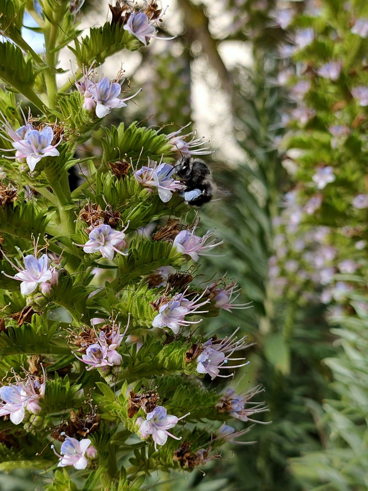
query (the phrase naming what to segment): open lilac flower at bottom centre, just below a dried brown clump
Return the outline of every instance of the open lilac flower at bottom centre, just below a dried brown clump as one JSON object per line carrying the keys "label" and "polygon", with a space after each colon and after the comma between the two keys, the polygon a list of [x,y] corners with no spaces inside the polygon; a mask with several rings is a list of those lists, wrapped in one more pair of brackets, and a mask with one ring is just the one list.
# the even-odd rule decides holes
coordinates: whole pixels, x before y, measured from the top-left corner
{"label": "open lilac flower at bottom centre, just below a dried brown clump", "polygon": [[184,414],[184,416],[177,418],[172,414],[167,414],[167,410],[163,406],[157,406],[153,411],[146,415],[146,419],[143,420],[139,427],[139,433],[142,437],[147,437],[152,435],[155,450],[157,451],[157,445],[164,445],[167,441],[167,437],[171,436],[175,440],[181,440],[181,436],[174,436],[167,430],[174,428],[174,426],[180,421],[188,416],[190,412]]}

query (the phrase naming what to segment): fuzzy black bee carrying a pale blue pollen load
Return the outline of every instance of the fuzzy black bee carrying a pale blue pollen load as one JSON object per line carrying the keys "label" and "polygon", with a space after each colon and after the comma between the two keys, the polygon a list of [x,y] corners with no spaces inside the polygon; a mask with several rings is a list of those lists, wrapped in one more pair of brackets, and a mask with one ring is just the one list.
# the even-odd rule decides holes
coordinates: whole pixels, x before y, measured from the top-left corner
{"label": "fuzzy black bee carrying a pale blue pollen load", "polygon": [[202,206],[212,198],[213,183],[210,169],[201,159],[183,157],[177,165],[176,174],[185,185],[179,194],[192,206]]}

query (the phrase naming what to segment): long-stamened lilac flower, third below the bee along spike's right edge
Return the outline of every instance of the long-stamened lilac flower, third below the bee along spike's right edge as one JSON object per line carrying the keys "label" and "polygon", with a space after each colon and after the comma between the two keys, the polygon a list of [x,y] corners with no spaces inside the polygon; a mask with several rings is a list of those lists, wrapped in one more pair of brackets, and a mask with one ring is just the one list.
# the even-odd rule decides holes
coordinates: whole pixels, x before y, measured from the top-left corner
{"label": "long-stamened lilac flower, third below the bee along spike's right edge", "polygon": [[239,328],[237,328],[231,336],[227,336],[220,341],[213,341],[209,339],[203,345],[202,353],[197,357],[197,372],[203,374],[209,374],[211,380],[216,377],[232,377],[234,373],[230,375],[220,375],[220,370],[242,367],[249,364],[249,361],[241,363],[240,365],[227,366],[228,361],[244,360],[245,358],[231,358],[231,355],[238,351],[247,348],[250,345],[245,344],[245,336],[237,340],[234,338]]}

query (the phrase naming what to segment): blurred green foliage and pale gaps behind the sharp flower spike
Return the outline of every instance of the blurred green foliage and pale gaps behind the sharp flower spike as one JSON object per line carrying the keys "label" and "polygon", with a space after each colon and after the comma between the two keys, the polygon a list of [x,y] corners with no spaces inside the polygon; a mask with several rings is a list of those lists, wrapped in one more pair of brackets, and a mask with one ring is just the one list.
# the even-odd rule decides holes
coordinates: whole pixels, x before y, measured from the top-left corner
{"label": "blurred green foliage and pale gaps behind the sharp flower spike", "polygon": [[[355,170],[355,177],[349,180],[341,173],[338,198],[327,197],[320,212],[301,220],[301,229],[303,234],[311,234],[317,227],[331,227],[330,242],[346,251],[341,259],[354,259],[354,242],[366,240],[366,213],[363,210],[364,214],[357,215],[349,200],[365,191],[368,118],[363,104],[352,103],[351,87],[367,82],[367,36],[351,33],[351,29],[357,19],[368,17],[368,7],[363,0],[168,3],[165,26],[167,33],[177,34],[177,38],[172,44],[153,42],[141,59],[128,64],[127,74],[134,86],[142,84],[144,97],[123,114],[126,123],[146,121],[157,127],[171,121],[172,125],[162,127],[165,133],[193,121],[191,130],[198,127],[198,135],[207,132],[211,137],[216,153],[206,161],[217,191],[200,215],[203,228],[216,229],[226,245],[219,255],[204,258],[196,271],[197,281],[219,279],[218,272],[227,271],[227,278],[242,288],[237,301],[252,301],[252,306],[232,313],[223,310],[220,317],[203,323],[203,329],[212,333],[228,327],[230,332],[238,325],[255,343],[249,352],[250,365],[238,372],[235,382],[240,386],[263,384],[270,409],[264,420],[272,423],[255,425],[249,439],[256,442],[233,446],[233,457],[207,464],[206,476],[199,470],[186,479],[168,474],[161,476],[158,484],[158,476],[152,475],[145,488],[367,490],[364,251],[359,253],[361,267],[355,275],[343,277],[335,263],[332,265],[337,280],[344,280],[349,288],[342,297],[334,297],[332,292],[328,301],[321,300],[323,282],[318,283],[313,272],[306,279],[298,274],[299,266],[297,272],[290,266],[289,275],[284,276],[270,270],[285,269],[290,257],[298,264],[301,261],[300,249],[290,257],[292,247],[281,253],[280,227],[286,224],[287,193],[300,191],[299,208],[304,198],[310,198],[310,169],[321,164],[318,152],[325,149],[325,141],[329,145],[328,125],[341,121],[356,132],[349,154],[351,160],[353,153],[356,162],[350,169]],[[107,3],[85,1],[81,19],[85,16],[98,24],[106,11]],[[313,47],[300,40],[308,36],[302,30],[311,28]],[[286,56],[290,46],[300,49]],[[331,58],[346,67],[338,81],[316,76],[318,66]],[[116,63],[110,68],[116,72]],[[299,80],[312,85],[302,94],[304,99],[290,95],[290,87]],[[345,107],[349,111],[342,114]],[[308,108],[314,112],[303,119],[301,109],[308,113]],[[110,114],[110,124],[119,123],[120,115],[118,111]],[[83,156],[99,155],[96,141],[91,139],[80,149]],[[343,168],[343,160],[349,156],[339,147],[328,148],[334,153],[331,160],[340,159]],[[315,153],[306,157],[310,149]],[[71,174],[76,183],[78,173],[79,169],[74,169]],[[339,210],[339,196],[346,203],[343,211]],[[354,213],[350,220],[349,214]],[[338,216],[342,218],[331,219]],[[289,225],[293,224],[295,215],[288,217]],[[300,227],[289,225],[283,240],[291,244],[300,239],[301,232]],[[340,232],[344,225],[358,232],[344,235]],[[34,484],[32,476],[23,471],[0,475],[4,491],[33,490],[36,486],[42,486],[42,479]]]}

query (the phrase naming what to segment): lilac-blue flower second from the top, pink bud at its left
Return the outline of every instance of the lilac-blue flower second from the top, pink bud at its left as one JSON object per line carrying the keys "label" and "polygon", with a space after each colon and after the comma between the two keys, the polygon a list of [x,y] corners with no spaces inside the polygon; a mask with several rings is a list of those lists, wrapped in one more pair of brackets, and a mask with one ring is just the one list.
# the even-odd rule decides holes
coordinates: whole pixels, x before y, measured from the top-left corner
{"label": "lilac-blue flower second from the top, pink bud at its left", "polygon": [[[119,99],[118,95],[121,92],[121,86],[118,82],[110,82],[108,77],[104,77],[100,82],[94,82],[88,91],[88,98],[93,98],[96,103],[96,116],[103,118],[113,108],[126,108],[125,101],[129,101],[135,97],[142,89],[139,89],[134,95],[127,97],[126,99]],[[84,93],[86,97],[86,93]],[[85,102],[86,103],[86,102]]]}

